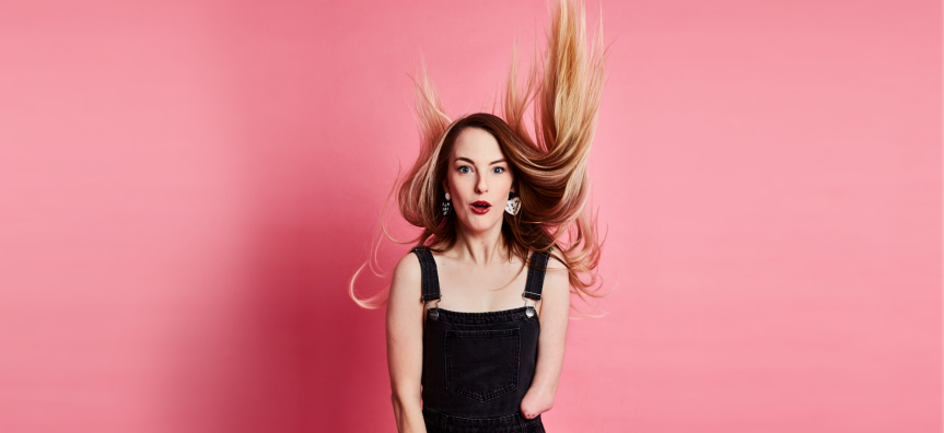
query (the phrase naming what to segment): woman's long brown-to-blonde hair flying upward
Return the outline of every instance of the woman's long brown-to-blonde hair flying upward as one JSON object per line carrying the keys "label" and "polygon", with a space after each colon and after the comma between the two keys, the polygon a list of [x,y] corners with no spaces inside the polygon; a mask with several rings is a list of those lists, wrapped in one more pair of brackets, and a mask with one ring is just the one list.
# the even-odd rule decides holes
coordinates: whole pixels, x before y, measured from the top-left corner
{"label": "woman's long brown-to-blonde hair flying upward", "polygon": [[[509,256],[514,254],[527,262],[529,249],[546,251],[567,267],[573,293],[584,302],[585,296],[606,295],[596,293],[599,288],[590,290],[599,278],[596,268],[603,241],[597,237],[596,218],[586,209],[586,163],[603,94],[606,57],[602,13],[598,19],[596,39],[587,50],[583,3],[575,7],[571,0],[556,1],[545,59],[532,62],[521,85],[515,47],[501,117],[476,113],[451,120],[422,68],[421,79],[413,82],[420,153],[400,184],[397,200],[404,219],[422,229],[422,233],[404,242],[389,236],[384,226],[388,195],[381,213],[381,229],[388,238],[398,244],[426,245],[433,251],[453,247],[455,213],[443,216],[440,208],[445,199],[442,180],[447,159],[463,129],[483,129],[498,141],[521,198],[516,215],[503,213],[501,233],[509,245]],[[528,106],[534,109],[534,138],[524,118]],[[396,183],[391,194],[395,189]],[[354,281],[363,267],[351,278],[349,294],[362,307],[378,308],[386,304],[386,300],[374,303],[383,292],[366,301],[354,295]],[[588,274],[590,281],[581,280],[581,274]]]}

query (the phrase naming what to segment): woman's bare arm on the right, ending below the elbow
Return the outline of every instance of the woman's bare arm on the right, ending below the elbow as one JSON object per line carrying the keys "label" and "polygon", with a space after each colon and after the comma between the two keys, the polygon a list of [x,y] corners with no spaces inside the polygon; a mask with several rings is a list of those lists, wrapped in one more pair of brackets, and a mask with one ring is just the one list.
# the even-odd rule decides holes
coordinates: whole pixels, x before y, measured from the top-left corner
{"label": "woman's bare arm on the right, ending below the elbow", "polygon": [[563,365],[567,320],[570,316],[570,281],[567,268],[551,257],[541,289],[540,336],[534,381],[521,401],[521,412],[533,419],[553,407],[553,396]]}

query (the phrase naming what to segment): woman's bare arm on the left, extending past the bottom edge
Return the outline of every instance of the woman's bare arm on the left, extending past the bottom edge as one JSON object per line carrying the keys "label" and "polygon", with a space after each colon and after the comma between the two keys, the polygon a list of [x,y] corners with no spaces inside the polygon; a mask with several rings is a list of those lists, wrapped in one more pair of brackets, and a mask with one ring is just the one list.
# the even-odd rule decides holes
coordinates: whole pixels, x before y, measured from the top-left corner
{"label": "woman's bare arm on the left, extending past the bottom edge", "polygon": [[409,253],[394,269],[386,319],[391,399],[399,433],[427,431],[420,397],[424,326],[421,284],[419,258]]}

